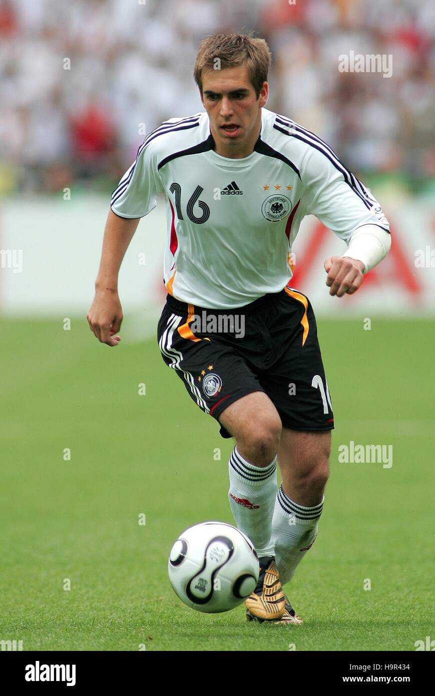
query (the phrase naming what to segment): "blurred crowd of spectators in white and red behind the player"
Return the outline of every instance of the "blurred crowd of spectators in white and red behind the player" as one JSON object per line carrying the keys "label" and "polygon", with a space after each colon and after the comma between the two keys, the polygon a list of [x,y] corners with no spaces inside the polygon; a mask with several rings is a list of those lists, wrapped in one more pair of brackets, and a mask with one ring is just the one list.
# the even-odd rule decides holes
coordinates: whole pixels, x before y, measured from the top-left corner
{"label": "blurred crowd of spectators in white and red behind the player", "polygon": [[[0,0],[0,193],[112,189],[144,129],[203,111],[200,39],[252,30],[268,109],[358,173],[432,185],[434,0]],[[339,72],[350,51],[393,56],[392,77]]]}

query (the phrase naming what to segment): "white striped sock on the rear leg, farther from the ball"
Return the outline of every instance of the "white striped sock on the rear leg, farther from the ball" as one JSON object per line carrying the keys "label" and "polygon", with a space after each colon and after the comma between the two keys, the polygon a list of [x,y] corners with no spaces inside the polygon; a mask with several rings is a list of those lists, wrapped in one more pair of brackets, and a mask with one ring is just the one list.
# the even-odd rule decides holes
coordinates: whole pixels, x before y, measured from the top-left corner
{"label": "white striped sock on the rear leg, farther from the ball", "polygon": [[290,500],[283,491],[283,484],[280,485],[272,521],[272,541],[281,585],[292,579],[297,565],[313,546],[324,499],[325,496],[319,505],[304,507]]}

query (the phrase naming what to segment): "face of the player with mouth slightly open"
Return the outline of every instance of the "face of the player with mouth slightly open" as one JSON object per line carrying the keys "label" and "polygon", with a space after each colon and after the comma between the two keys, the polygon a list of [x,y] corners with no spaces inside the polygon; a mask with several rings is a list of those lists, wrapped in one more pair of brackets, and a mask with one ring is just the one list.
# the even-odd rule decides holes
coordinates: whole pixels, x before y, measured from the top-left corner
{"label": "face of the player with mouth slightly open", "polygon": [[239,158],[253,152],[260,133],[261,108],[268,95],[264,82],[257,99],[246,65],[203,73],[201,101],[209,116],[218,155]]}

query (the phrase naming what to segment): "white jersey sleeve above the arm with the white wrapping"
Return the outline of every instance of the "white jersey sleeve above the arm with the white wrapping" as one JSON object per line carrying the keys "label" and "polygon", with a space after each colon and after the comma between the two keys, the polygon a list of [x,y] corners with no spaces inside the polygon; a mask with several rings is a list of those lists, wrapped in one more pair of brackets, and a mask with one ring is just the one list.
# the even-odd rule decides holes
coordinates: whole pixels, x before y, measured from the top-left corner
{"label": "white jersey sleeve above the arm with the white wrapping", "polygon": [[315,215],[346,243],[352,232],[363,225],[377,225],[390,231],[376,198],[326,145],[322,145],[322,151],[311,147],[303,165],[306,214]]}

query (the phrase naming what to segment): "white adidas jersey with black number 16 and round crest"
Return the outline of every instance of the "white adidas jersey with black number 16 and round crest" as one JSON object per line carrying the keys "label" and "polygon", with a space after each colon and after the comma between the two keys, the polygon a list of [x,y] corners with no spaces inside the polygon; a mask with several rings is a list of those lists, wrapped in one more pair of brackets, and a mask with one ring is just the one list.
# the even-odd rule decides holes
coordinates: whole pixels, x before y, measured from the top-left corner
{"label": "white adidas jersey with black number 16 and round crest", "polygon": [[214,152],[207,112],[163,122],[113,191],[111,209],[143,217],[158,193],[166,199],[168,293],[206,308],[237,308],[283,290],[308,214],[347,243],[366,224],[389,232],[377,200],[328,145],[264,108],[254,151],[243,159]]}

